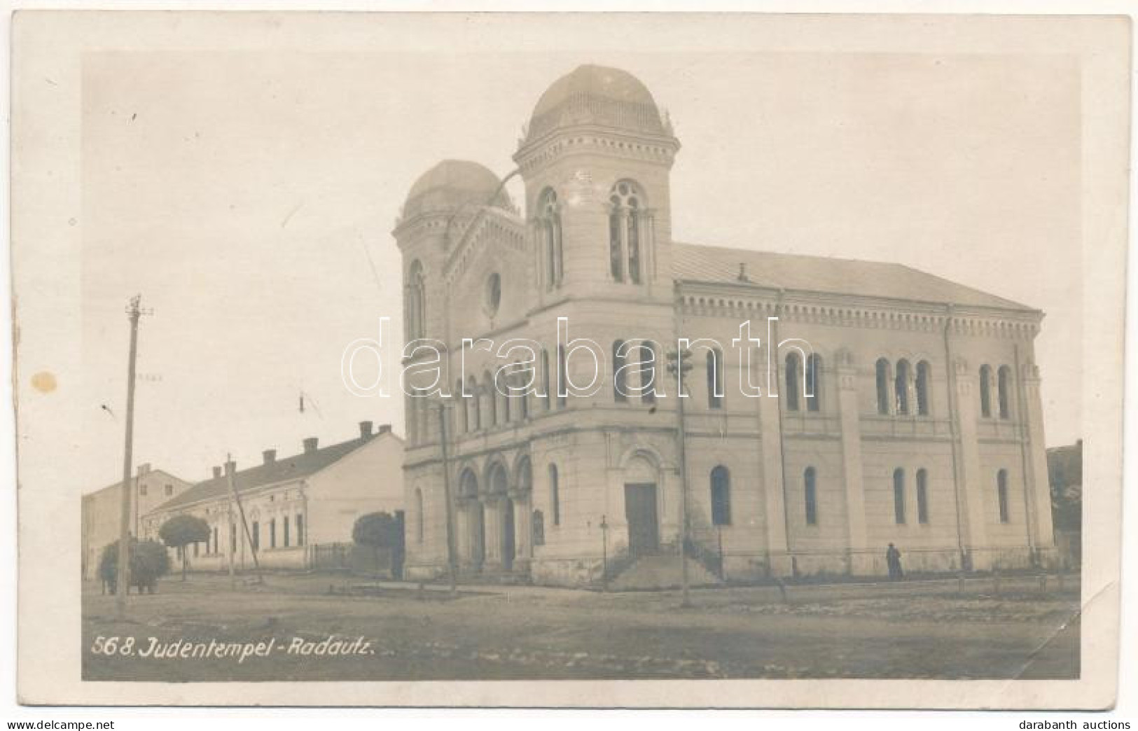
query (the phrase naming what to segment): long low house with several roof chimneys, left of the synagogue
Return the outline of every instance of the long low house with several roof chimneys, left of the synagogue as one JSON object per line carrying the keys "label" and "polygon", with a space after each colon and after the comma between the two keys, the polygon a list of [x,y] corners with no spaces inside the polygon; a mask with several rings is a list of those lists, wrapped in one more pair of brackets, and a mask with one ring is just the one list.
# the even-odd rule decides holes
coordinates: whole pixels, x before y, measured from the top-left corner
{"label": "long low house with several roof chimneys, left of the synagogue", "polygon": [[298,454],[265,450],[255,467],[214,467],[213,477],[143,515],[142,535],[157,540],[166,520],[189,514],[209,525],[209,539],[187,549],[193,569],[228,570],[230,560],[251,569],[254,550],[263,568],[310,568],[318,547],[352,542],[360,516],[402,515],[402,459],[403,440],[389,425],[373,432],[361,421],[360,436],[347,442],[321,447],[310,437]]}

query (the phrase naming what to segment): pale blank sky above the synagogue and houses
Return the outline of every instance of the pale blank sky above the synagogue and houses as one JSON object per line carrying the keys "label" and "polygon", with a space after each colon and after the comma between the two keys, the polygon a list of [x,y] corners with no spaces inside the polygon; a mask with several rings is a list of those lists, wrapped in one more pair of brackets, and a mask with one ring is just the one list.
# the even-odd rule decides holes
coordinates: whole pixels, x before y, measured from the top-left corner
{"label": "pale blank sky above the synagogue and houses", "polygon": [[121,478],[135,293],[137,462],[197,481],[360,420],[402,432],[401,400],[349,394],[340,356],[382,317],[399,335],[406,191],[443,158],[509,173],[541,93],[585,63],[668,110],[676,240],[896,261],[1044,310],[1047,444],[1079,438],[1069,56],[106,51],[82,73],[86,490]]}

